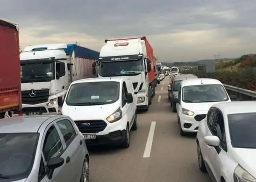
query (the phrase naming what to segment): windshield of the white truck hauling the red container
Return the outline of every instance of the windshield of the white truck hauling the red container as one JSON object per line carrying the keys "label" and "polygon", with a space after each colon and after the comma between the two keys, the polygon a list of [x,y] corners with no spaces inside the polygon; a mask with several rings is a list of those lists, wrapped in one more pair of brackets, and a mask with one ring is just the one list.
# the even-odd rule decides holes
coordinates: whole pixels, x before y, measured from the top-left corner
{"label": "windshield of the white truck hauling the red container", "polygon": [[143,72],[143,60],[101,62],[100,76],[133,76]]}

